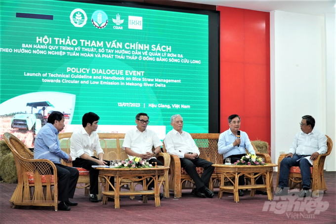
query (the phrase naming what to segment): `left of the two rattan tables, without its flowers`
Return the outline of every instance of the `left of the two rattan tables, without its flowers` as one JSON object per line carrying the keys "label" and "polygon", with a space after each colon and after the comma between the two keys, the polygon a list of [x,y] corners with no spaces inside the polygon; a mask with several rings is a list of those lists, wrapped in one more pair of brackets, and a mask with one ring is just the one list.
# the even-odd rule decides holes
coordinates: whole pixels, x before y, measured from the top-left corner
{"label": "left of the two rattan tables, without its flowers", "polygon": [[[165,172],[168,172],[168,166],[156,166],[151,168],[95,168],[99,170],[99,178],[103,184],[103,204],[107,204],[108,197],[114,198],[115,208],[120,208],[119,197],[120,195],[143,195],[143,203],[147,203],[147,195],[154,195],[155,206],[160,207],[160,186],[158,186],[158,176],[162,176]],[[116,187],[111,185],[110,178],[115,177]],[[154,190],[147,190],[147,178],[149,182],[154,181]],[[142,181],[143,190],[138,191],[120,191],[120,187],[124,184],[121,182],[123,179],[132,181]],[[113,190],[109,191],[109,186],[112,186]]]}

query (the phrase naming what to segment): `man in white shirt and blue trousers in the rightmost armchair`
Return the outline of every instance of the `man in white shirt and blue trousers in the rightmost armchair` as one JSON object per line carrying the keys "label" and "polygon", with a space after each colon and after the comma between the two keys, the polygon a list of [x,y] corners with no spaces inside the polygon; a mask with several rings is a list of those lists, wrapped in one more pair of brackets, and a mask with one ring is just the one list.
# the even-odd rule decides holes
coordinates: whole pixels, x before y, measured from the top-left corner
{"label": "man in white shirt and blue trousers in the rightmost armchair", "polygon": [[327,137],[314,129],[315,119],[310,115],[302,117],[301,131],[294,137],[294,142],[288,155],[280,163],[279,185],[275,196],[288,194],[288,176],[292,166],[299,166],[302,177],[302,191],[299,197],[310,195],[310,167],[319,154],[327,152]]}

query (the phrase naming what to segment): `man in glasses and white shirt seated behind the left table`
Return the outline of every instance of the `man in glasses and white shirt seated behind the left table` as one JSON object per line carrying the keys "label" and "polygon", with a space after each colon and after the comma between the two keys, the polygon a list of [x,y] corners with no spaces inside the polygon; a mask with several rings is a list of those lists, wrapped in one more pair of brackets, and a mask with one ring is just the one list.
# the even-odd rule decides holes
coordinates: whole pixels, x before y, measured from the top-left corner
{"label": "man in glasses and white shirt seated behind the left table", "polygon": [[[163,145],[155,131],[147,129],[149,116],[147,113],[138,113],[135,116],[136,127],[127,131],[123,144],[128,157],[136,156],[149,160],[149,164],[163,166],[164,164],[156,159],[156,155],[161,151]],[[152,152],[152,148],[155,150]],[[154,187],[154,181],[148,186],[148,189]],[[160,193],[160,199],[163,194]]]}

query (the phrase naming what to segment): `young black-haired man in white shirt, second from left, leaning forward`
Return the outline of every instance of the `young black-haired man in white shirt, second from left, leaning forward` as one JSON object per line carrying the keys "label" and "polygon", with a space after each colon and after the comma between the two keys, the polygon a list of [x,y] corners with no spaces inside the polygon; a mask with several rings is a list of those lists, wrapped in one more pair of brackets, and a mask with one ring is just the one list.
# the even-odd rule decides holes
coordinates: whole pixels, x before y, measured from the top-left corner
{"label": "young black-haired man in white shirt, second from left, leaning forward", "polygon": [[[99,137],[96,132],[98,128],[99,116],[93,112],[83,115],[82,125],[80,129],[74,131],[71,136],[70,155],[73,158],[74,167],[83,167],[89,170],[90,176],[90,197],[91,202],[98,202],[98,175],[99,170],[92,168],[92,165],[110,165],[109,161],[103,160],[104,151],[100,146]],[[93,156],[94,150],[97,152],[98,158]],[[111,179],[114,183],[114,179]],[[111,189],[111,186],[110,186]]]}

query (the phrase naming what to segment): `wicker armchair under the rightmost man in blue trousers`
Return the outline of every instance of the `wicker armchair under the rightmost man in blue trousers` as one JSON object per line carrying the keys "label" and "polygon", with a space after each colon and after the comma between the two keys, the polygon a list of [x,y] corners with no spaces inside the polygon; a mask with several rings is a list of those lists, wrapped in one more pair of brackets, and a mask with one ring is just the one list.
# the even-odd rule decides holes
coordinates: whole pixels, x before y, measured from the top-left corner
{"label": "wicker armchair under the rightmost man in blue trousers", "polygon": [[[332,139],[327,136],[327,152],[325,154],[320,154],[317,156],[317,158],[313,162],[313,166],[310,167],[310,180],[311,180],[311,186],[312,186],[312,195],[318,196],[319,191],[327,190],[328,187],[326,185],[326,182],[324,181],[324,162],[326,160],[327,155],[329,155],[333,149],[333,141]],[[277,187],[279,184],[279,173],[280,173],[280,163],[285,158],[287,154],[281,154],[278,159],[278,179],[277,179]],[[290,169],[290,175],[288,177],[288,187],[290,189],[293,188],[302,188],[302,178],[300,173],[300,168],[298,166],[293,166]]]}

